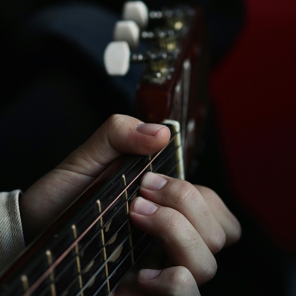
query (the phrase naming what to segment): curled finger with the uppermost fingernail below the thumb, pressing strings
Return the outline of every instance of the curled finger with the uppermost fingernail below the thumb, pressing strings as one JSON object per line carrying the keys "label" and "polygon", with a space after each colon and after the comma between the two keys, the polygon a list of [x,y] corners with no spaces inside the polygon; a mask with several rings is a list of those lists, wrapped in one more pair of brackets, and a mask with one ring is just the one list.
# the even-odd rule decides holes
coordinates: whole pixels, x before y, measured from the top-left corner
{"label": "curled finger with the uppermost fingernail below the thumb, pressing strings", "polygon": [[197,188],[183,180],[148,172],[141,183],[141,196],[174,208],[193,225],[213,254],[225,243],[225,232]]}

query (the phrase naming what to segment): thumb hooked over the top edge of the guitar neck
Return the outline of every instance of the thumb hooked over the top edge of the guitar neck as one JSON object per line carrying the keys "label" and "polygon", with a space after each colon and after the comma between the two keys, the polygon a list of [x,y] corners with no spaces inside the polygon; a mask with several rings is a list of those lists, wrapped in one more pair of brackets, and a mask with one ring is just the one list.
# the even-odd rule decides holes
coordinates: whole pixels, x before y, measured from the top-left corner
{"label": "thumb hooked over the top edge of the guitar neck", "polygon": [[83,145],[24,193],[20,199],[24,232],[36,236],[121,153],[148,155],[165,147],[169,137],[169,128],[164,125],[112,115]]}

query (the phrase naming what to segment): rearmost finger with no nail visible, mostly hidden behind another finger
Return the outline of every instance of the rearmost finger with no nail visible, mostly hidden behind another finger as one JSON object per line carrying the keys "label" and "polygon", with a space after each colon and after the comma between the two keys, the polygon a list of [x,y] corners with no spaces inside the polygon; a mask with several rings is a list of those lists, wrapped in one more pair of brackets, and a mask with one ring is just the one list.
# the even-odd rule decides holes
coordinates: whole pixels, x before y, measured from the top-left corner
{"label": "rearmost finger with no nail visible, mostly hidden behind another finger", "polygon": [[237,242],[241,236],[241,226],[235,216],[229,211],[218,194],[212,189],[194,185],[205,199],[217,221],[222,226],[226,241],[225,246]]}

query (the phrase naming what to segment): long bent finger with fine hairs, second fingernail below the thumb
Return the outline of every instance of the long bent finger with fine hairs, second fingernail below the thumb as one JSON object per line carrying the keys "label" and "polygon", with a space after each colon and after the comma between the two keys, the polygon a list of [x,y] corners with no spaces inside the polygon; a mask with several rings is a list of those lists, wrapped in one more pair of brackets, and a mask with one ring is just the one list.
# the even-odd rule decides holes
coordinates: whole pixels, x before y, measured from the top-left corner
{"label": "long bent finger with fine hairs, second fingernail below the thumb", "polygon": [[213,254],[180,212],[138,197],[130,204],[130,219],[141,230],[158,238],[169,259],[189,269],[197,284],[215,275],[217,263]]}

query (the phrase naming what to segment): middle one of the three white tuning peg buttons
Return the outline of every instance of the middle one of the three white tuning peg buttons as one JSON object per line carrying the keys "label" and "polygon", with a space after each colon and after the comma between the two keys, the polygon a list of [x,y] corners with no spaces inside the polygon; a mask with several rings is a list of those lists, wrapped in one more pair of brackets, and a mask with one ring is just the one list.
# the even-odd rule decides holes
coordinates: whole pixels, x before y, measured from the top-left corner
{"label": "middle one of the three white tuning peg buttons", "polygon": [[140,28],[134,21],[116,22],[113,38],[115,41],[126,41],[131,48],[136,48],[139,44]]}

